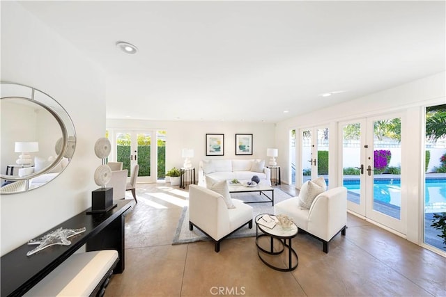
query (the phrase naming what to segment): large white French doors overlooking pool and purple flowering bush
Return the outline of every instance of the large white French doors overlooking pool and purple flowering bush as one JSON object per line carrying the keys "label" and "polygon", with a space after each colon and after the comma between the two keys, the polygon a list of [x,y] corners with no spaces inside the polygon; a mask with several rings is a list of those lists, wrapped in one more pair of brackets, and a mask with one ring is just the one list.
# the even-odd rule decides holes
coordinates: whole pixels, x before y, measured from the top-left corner
{"label": "large white French doors overlooking pool and purple flowering bush", "polygon": [[339,125],[348,209],[405,234],[401,115],[387,114]]}

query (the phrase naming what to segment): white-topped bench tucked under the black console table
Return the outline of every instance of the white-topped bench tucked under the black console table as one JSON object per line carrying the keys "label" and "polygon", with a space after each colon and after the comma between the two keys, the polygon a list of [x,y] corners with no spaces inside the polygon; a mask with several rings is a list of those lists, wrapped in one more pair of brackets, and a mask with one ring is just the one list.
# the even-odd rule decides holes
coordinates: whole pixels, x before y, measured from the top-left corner
{"label": "white-topped bench tucked under the black console table", "polygon": [[24,296],[103,296],[118,260],[116,250],[74,254]]}

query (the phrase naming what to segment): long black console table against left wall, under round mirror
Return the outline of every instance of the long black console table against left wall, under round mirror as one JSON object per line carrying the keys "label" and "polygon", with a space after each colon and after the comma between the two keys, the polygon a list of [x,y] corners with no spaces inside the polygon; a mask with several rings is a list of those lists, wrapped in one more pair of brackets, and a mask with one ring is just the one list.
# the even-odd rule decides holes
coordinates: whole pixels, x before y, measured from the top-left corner
{"label": "long black console table against left wall, under round mirror", "polygon": [[114,202],[118,206],[105,214],[86,214],[86,211],[82,211],[40,235],[43,236],[59,227],[66,229],[86,227],[85,232],[70,237],[70,246],[50,246],[28,257],[26,252],[36,246],[29,246],[25,243],[3,255],[0,258],[1,296],[22,296],[84,244],[86,244],[87,252],[117,250],[119,262],[116,264],[114,273],[122,273],[125,267],[124,216],[125,212],[130,209],[130,200]]}

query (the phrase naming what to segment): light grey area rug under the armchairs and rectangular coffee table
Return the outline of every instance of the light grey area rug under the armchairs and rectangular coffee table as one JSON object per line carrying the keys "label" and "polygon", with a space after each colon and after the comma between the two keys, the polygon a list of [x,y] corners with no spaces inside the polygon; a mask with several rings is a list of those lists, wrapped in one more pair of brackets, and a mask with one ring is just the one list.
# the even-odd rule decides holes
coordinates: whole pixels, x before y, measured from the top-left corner
{"label": "light grey area rug under the armchairs and rectangular coffee table", "polygon": [[[267,195],[271,195],[270,192],[266,192]],[[265,201],[267,198],[263,195],[259,195],[259,193],[232,193],[231,197],[234,199],[242,200],[242,201]],[[292,195],[289,193],[285,193],[279,188],[274,189],[274,203],[277,204],[281,201],[291,198]],[[252,212],[254,214],[254,218],[258,214],[274,214],[274,207],[269,203],[250,203],[252,206]],[[253,225],[252,229],[249,229],[247,225],[242,227],[240,230],[237,230],[228,239],[233,238],[242,238],[242,237],[253,237],[256,236],[256,227]],[[209,237],[203,234],[200,230],[194,227],[194,230],[189,230],[189,211],[187,211],[187,207],[183,208],[183,211],[180,216],[180,220],[178,220],[178,226],[176,227],[176,232],[174,235],[174,239],[172,244],[183,244],[183,243],[191,243],[195,241],[210,241]]]}

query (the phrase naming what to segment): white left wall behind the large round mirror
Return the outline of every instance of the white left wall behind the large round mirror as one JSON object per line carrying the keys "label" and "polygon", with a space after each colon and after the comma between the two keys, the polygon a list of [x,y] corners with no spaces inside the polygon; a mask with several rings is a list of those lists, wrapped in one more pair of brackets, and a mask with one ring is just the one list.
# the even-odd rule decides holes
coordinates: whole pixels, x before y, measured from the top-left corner
{"label": "white left wall behind the large round mirror", "polygon": [[100,165],[93,145],[105,131],[103,77],[100,67],[19,3],[1,1],[1,81],[52,96],[77,132],[75,154],[59,177],[28,193],[1,195],[1,255],[91,206]]}

